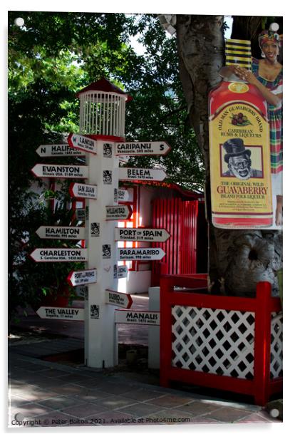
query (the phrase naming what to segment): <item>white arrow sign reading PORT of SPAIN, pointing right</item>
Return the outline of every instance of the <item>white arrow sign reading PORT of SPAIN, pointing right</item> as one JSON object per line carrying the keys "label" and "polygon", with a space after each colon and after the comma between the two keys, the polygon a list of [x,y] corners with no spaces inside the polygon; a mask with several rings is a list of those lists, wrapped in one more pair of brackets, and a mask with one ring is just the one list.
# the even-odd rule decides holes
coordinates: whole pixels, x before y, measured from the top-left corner
{"label": "white arrow sign reading PORT of SPAIN, pointing right", "polygon": [[165,229],[116,227],[115,241],[165,242],[170,234]]}

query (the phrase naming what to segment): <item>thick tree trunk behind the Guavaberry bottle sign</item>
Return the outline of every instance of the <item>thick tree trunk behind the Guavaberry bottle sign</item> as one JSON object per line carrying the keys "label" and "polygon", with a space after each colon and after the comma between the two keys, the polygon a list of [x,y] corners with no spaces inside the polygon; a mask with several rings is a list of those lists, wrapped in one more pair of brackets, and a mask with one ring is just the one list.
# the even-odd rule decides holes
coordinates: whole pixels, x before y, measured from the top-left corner
{"label": "thick tree trunk behind the Guavaberry bottle sign", "polygon": [[223,16],[177,15],[180,80],[190,123],[206,169],[209,221],[209,279],[214,293],[253,296],[259,281],[271,282],[278,296],[276,270],[282,266],[282,234],[267,230],[224,230],[212,226],[209,177],[208,94],[224,65]]}

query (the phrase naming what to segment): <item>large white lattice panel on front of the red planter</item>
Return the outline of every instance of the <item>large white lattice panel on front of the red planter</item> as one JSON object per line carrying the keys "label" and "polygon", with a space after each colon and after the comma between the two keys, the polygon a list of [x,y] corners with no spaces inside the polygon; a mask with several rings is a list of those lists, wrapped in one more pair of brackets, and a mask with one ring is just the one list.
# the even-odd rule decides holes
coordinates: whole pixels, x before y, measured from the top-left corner
{"label": "large white lattice panel on front of the red planter", "polygon": [[254,313],[172,306],[172,366],[254,376]]}

